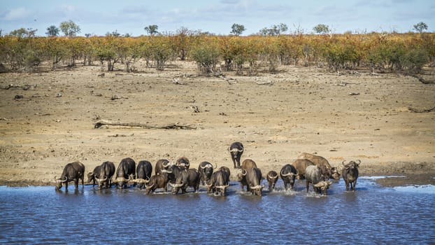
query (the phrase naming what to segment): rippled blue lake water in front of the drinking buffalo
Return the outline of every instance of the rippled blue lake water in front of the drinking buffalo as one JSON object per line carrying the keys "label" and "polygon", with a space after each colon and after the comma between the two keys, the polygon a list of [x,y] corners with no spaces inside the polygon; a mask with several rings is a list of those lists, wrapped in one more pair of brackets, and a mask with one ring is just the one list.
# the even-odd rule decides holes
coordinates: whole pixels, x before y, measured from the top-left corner
{"label": "rippled blue lake water in front of the drinking buffalo", "polygon": [[262,197],[236,182],[226,197],[204,186],[184,195],[1,186],[0,244],[435,243],[435,186],[384,188],[362,176],[355,193],[341,180],[326,197],[304,186],[278,181]]}

